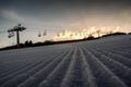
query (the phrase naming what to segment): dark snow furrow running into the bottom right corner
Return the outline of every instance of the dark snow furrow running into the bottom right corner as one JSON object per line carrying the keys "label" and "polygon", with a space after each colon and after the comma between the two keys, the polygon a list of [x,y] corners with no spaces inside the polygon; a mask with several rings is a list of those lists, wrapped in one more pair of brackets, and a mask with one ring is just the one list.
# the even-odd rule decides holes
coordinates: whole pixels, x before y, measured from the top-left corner
{"label": "dark snow furrow running into the bottom right corner", "polygon": [[[131,79],[131,69],[127,67],[122,63],[110,59],[109,57],[106,57],[102,53],[99,53],[96,50],[92,49],[92,53],[96,55],[96,58],[102,61],[116,76],[118,76],[122,82],[124,82],[127,85],[130,85]],[[97,57],[100,55],[100,57]]]}

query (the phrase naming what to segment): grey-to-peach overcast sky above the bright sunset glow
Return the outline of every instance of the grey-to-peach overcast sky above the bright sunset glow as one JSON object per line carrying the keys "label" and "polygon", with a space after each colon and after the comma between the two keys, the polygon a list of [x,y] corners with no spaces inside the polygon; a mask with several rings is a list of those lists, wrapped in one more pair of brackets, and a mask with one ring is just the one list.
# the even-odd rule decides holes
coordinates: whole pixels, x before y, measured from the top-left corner
{"label": "grey-to-peach overcast sky above the bright sunset glow", "polygon": [[[131,32],[130,0],[0,0],[0,32],[21,23],[28,30],[39,32],[86,26],[117,27]],[[50,32],[51,33],[51,32]],[[29,34],[24,37],[29,39]],[[32,33],[33,34],[33,33]],[[0,46],[15,44],[8,34],[0,34]],[[9,40],[9,41],[5,41]],[[35,40],[34,36],[34,40]]]}

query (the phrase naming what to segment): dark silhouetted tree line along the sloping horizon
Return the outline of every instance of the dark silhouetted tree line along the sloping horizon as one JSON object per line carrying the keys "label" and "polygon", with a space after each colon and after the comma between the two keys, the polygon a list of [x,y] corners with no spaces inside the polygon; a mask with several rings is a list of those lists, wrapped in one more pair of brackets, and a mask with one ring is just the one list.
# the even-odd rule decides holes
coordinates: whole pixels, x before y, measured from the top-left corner
{"label": "dark silhouetted tree line along the sloping horizon", "polygon": [[4,48],[1,48],[0,50],[10,50],[10,49],[21,49],[21,48],[28,48],[28,47],[38,47],[38,46],[48,46],[48,45],[56,45],[56,44],[66,44],[66,42],[74,42],[74,41],[82,41],[82,40],[94,40],[94,39],[99,39],[103,37],[109,37],[109,36],[117,36],[117,35],[131,35],[131,33],[111,33],[111,34],[106,34],[100,37],[94,37],[94,36],[88,36],[87,38],[83,39],[78,39],[78,40],[62,40],[62,41],[52,41],[52,40],[45,40],[44,42],[33,42],[32,40],[26,40],[24,44],[20,44],[20,46],[14,45],[14,46],[8,46]]}

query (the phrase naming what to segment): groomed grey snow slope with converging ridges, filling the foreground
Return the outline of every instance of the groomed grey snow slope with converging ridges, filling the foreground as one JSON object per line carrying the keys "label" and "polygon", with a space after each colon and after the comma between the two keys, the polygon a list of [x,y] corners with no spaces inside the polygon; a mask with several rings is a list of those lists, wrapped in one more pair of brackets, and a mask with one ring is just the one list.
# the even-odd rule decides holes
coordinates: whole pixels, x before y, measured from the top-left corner
{"label": "groomed grey snow slope with converging ridges, filling the foreground", "polygon": [[131,35],[0,51],[0,87],[131,87]]}

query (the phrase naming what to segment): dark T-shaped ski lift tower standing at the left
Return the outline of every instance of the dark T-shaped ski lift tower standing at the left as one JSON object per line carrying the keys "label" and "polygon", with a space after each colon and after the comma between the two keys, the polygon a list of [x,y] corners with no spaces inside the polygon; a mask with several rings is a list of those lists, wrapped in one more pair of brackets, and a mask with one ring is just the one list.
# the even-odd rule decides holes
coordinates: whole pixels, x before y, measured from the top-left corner
{"label": "dark T-shaped ski lift tower standing at the left", "polygon": [[16,32],[16,44],[17,46],[20,46],[20,32],[25,30],[25,27],[22,27],[21,24],[19,24],[17,26],[14,26],[12,29],[9,29],[8,33],[10,35],[10,33],[14,33]]}

